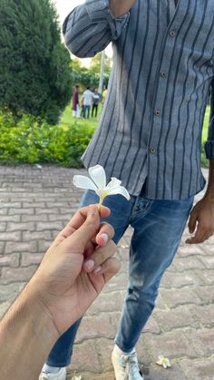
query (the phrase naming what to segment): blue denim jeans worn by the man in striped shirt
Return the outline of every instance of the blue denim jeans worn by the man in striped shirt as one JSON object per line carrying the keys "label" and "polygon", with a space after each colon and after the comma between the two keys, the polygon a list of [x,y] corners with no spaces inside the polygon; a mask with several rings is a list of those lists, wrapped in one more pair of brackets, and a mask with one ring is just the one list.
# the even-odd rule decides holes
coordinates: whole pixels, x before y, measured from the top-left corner
{"label": "blue denim jeans worn by the man in striped shirt", "polygon": [[[82,205],[96,203],[95,192],[83,195]],[[142,194],[125,200],[121,195],[107,197],[104,205],[111,210],[108,222],[115,229],[117,243],[131,225],[129,284],[122,318],[115,342],[124,352],[131,352],[141,330],[151,316],[160,279],[169,267],[192,207],[193,197],[188,200],[149,200]],[[73,341],[80,321],[61,336],[48,356],[47,364],[65,366],[71,361]]]}

